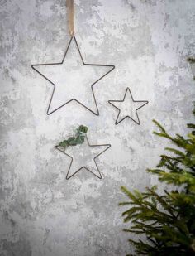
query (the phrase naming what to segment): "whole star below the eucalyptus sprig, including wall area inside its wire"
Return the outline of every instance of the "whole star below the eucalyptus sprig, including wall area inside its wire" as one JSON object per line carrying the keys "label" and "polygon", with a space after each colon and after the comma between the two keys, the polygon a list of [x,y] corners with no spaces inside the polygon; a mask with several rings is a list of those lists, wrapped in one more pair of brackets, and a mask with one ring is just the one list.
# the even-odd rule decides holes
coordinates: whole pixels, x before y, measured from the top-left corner
{"label": "whole star below the eucalyptus sprig, including wall area inside its wire", "polygon": [[70,146],[66,149],[64,149],[64,147],[55,146],[56,149],[71,158],[69,171],[66,175],[67,180],[69,180],[69,178],[74,176],[78,171],[81,171],[82,169],[86,169],[87,171],[93,173],[94,176],[102,179],[96,158],[102,155],[103,152],[107,151],[109,147],[111,147],[110,144],[90,145],[87,136],[83,144]]}

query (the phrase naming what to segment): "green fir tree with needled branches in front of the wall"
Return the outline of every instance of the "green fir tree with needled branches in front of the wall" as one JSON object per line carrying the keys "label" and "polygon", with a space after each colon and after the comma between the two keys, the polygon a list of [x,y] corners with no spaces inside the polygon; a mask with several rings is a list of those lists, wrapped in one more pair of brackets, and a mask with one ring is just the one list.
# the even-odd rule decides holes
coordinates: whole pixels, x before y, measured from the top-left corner
{"label": "green fir tree with needled branches in front of the wall", "polygon": [[169,153],[160,156],[155,169],[147,171],[170,189],[159,195],[157,186],[147,187],[143,193],[122,186],[129,201],[120,205],[131,206],[122,214],[131,225],[124,230],[139,236],[145,234],[146,239],[129,239],[136,255],[195,255],[195,124],[188,123],[190,133],[183,138],[179,134],[170,136],[154,122],[159,128],[154,133],[168,139],[174,147],[166,147]]}

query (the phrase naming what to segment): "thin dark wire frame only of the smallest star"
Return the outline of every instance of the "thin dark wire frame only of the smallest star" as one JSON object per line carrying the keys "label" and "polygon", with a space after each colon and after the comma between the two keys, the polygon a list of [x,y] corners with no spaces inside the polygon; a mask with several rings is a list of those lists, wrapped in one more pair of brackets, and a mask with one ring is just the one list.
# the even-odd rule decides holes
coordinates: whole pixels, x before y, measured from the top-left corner
{"label": "thin dark wire frame only of the smallest star", "polygon": [[[109,104],[112,104],[112,102],[124,102],[125,99],[126,99],[126,94],[127,94],[128,91],[129,91],[130,94],[131,94],[130,88],[127,87],[127,88],[126,88],[126,93],[125,93],[124,98],[123,98],[122,100],[108,100],[108,103],[109,103]],[[121,120],[120,120],[119,122],[117,122],[117,121],[118,121],[118,118],[119,118],[119,116],[120,116],[120,114],[121,114],[121,109],[117,108],[114,104],[112,104],[113,107],[115,107],[116,109],[118,109],[117,119],[116,119],[116,121],[115,121],[115,124],[116,124],[116,125],[117,125],[118,123],[121,123],[121,122],[122,122],[124,119],[126,119],[126,118],[130,118],[133,122],[135,122],[136,124],[139,124],[139,125],[140,125],[140,118],[139,118],[139,116],[138,116],[138,114],[137,114],[137,110],[138,110],[138,109],[141,109],[142,107],[144,107],[145,104],[148,104],[148,103],[149,103],[149,101],[148,101],[148,100],[134,100],[132,94],[131,94],[131,99],[132,99],[133,102],[140,102],[140,103],[142,102],[142,103],[144,103],[143,105],[141,105],[139,108],[136,109],[136,117],[137,117],[138,122],[136,122],[136,120],[134,120],[133,118],[131,118],[131,116],[129,116],[129,115],[126,115],[124,118],[121,118]]]}

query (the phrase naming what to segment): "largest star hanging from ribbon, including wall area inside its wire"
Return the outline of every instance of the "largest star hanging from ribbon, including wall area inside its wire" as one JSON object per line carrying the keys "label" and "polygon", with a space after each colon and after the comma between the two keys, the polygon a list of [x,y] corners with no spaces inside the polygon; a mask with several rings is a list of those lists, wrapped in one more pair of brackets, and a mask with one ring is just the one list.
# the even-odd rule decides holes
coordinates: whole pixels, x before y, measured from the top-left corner
{"label": "largest star hanging from ribbon, including wall area inside its wire", "polygon": [[46,112],[48,115],[73,100],[99,115],[93,85],[115,68],[114,65],[85,63],[75,36],[71,37],[61,62],[35,64],[31,67],[54,85]]}

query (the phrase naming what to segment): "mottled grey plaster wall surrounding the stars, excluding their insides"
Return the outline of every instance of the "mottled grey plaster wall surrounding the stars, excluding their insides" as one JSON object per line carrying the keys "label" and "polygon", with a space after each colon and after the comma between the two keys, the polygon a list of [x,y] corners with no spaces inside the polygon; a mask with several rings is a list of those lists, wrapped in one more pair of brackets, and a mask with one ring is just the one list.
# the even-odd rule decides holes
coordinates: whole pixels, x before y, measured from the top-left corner
{"label": "mottled grey plaster wall surrounding the stars, excluding their insides", "polygon": [[[76,0],[76,37],[88,63],[116,65],[94,91],[100,116],[78,104],[45,114],[52,86],[31,64],[61,61],[69,42],[64,0],[0,1],[0,255],[104,256],[132,249],[121,220],[120,186],[144,190],[164,141],[152,118],[171,133],[193,119],[194,0]],[[150,103],[140,123],[115,126],[129,86]],[[65,180],[69,159],[54,146],[88,125],[91,143],[111,143],[98,159],[99,180],[80,171]]]}

